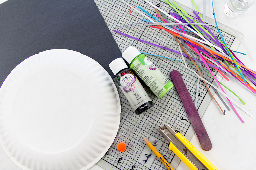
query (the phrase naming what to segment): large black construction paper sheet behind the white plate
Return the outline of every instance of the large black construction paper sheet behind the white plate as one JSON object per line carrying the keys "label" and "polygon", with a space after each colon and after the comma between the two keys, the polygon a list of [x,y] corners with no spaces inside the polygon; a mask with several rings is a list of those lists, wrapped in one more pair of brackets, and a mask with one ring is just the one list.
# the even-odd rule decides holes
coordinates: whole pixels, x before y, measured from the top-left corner
{"label": "large black construction paper sheet behind the white plate", "polygon": [[8,0],[0,4],[0,85],[20,62],[49,49],[87,55],[111,75],[121,57],[93,0]]}

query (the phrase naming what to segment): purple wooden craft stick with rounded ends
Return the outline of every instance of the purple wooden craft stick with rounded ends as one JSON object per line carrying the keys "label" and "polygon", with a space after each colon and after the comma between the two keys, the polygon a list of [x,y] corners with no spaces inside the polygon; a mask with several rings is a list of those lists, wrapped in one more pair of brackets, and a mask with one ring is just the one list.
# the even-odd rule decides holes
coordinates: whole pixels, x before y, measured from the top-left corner
{"label": "purple wooden craft stick with rounded ends", "polygon": [[211,150],[212,148],[211,140],[195,108],[195,105],[190,97],[189,91],[180,75],[180,72],[177,70],[173,70],[170,76],[172,78],[172,81],[176,90],[178,91],[178,94],[183,103],[183,106],[186,109],[186,112],[189,116],[189,119],[192,123],[192,126],[195,130],[196,136],[200,142],[201,147],[205,151]]}

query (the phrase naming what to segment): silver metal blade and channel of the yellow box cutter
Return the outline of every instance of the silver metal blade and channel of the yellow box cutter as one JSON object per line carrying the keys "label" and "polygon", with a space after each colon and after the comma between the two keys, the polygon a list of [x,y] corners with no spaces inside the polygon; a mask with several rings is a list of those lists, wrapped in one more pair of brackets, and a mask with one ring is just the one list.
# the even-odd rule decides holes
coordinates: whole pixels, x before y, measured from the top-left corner
{"label": "silver metal blade and channel of the yellow box cutter", "polygon": [[195,155],[189,151],[189,149],[182,143],[178,138],[176,138],[176,132],[172,130],[169,125],[159,127],[158,132],[170,143],[176,146],[180,152],[199,170],[206,170],[207,168],[200,160],[195,157]]}

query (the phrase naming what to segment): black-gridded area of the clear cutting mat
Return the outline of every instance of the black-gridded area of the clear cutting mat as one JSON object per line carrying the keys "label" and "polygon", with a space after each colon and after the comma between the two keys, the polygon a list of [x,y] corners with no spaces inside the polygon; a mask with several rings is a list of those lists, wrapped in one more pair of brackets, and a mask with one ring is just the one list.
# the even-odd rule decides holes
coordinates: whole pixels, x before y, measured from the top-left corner
{"label": "black-gridded area of the clear cutting mat", "polygon": [[[154,8],[151,7],[149,4],[145,3],[143,0],[128,0],[127,2],[135,8],[140,6],[144,10],[151,13],[153,16],[156,16]],[[169,5],[167,5],[164,1],[150,0],[150,2],[158,5],[164,11],[168,12],[169,10],[171,10],[171,12],[173,12],[172,8],[169,7]],[[180,61],[183,60],[181,55],[177,53],[170,52],[156,46],[152,46],[115,33],[113,31],[114,29],[130,36],[140,38],[176,51],[180,50],[177,42],[174,40],[173,37],[167,36],[162,31],[149,28],[149,26],[146,27],[143,24],[136,24],[124,27],[115,27],[120,25],[144,22],[141,19],[146,19],[141,14],[130,8],[128,5],[124,4],[123,1],[95,0],[95,3],[98,6],[102,17],[105,19],[105,22],[108,25],[108,28],[111,31],[121,52],[123,52],[128,46],[132,45],[141,52],[170,57]],[[170,22],[174,21],[170,19]],[[175,27],[177,28],[177,26]],[[208,27],[211,29],[214,35],[219,37],[219,33],[214,26],[209,25]],[[231,46],[235,37],[224,31],[222,31],[222,34],[224,39],[226,40],[227,45]],[[192,33],[189,33],[189,35],[195,36]],[[202,103],[207,93],[207,89],[205,88],[203,82],[201,82],[200,80],[199,92],[198,94],[196,94],[196,84],[198,78],[194,75],[194,73],[192,73],[192,71],[186,69],[184,62],[173,61],[167,58],[161,58],[152,55],[146,56],[170,80],[170,71],[178,70],[182,74],[183,80],[194,102],[196,95],[198,95],[197,109],[200,107],[200,104]],[[195,57],[199,59],[199,56],[195,55]],[[190,61],[190,59],[185,58],[185,61]],[[190,64],[188,62],[186,62],[186,64],[190,69],[197,72],[197,69],[193,64]],[[204,69],[207,69],[203,65],[202,67]],[[216,72],[214,73],[216,74]],[[210,76],[208,76],[208,78],[211,82],[213,81]],[[173,87],[169,92],[167,92],[167,94],[159,99],[150,91],[149,88],[145,86],[145,84],[143,84],[143,82],[141,83],[144,86],[149,97],[152,99],[153,103],[155,103],[152,109],[149,109],[147,112],[142,113],[141,115],[136,115],[134,113],[128,100],[125,98],[122,91],[117,86],[121,102],[121,122],[119,132],[110,149],[102,159],[117,167],[118,169],[148,169],[137,160],[143,148],[147,147],[145,146],[145,143],[143,143],[142,137],[148,139],[150,136],[154,136],[155,138],[163,142],[163,145],[161,146],[159,152],[170,163],[174,157],[174,153],[168,149],[167,141],[158,133],[158,128],[164,125],[170,125],[173,130],[176,130],[177,132],[179,131],[184,136],[189,128],[189,125],[191,124],[175,87]],[[117,84],[115,83],[115,85]],[[120,152],[117,150],[117,144],[119,142],[126,143],[127,148],[125,152]],[[165,167],[158,159],[155,159],[150,169],[165,169]]]}

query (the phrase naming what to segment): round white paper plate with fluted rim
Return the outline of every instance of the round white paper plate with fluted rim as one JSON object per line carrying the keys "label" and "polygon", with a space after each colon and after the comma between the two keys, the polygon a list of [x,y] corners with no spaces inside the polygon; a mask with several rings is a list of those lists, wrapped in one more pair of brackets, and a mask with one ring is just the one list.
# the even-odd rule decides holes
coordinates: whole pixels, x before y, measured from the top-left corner
{"label": "round white paper plate with fluted rim", "polygon": [[111,77],[79,52],[53,49],[27,58],[0,92],[2,147],[22,169],[88,169],[119,128]]}

